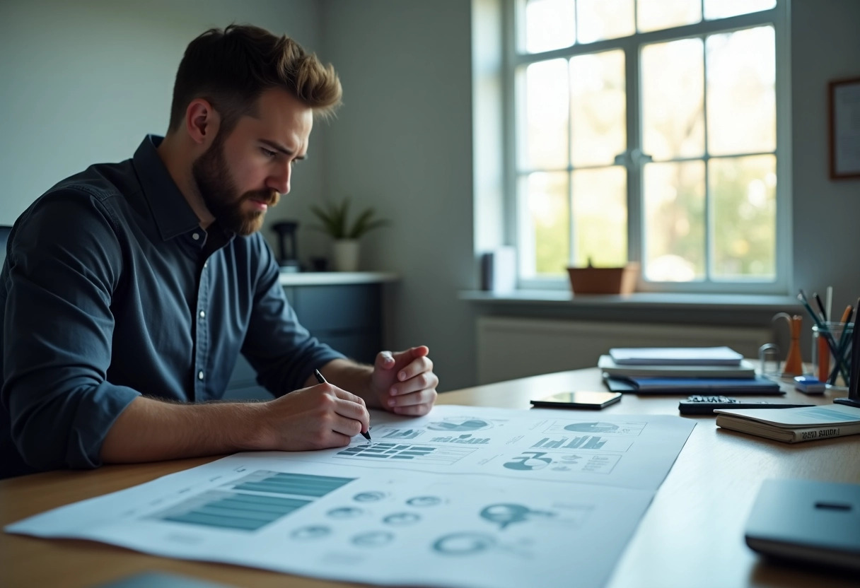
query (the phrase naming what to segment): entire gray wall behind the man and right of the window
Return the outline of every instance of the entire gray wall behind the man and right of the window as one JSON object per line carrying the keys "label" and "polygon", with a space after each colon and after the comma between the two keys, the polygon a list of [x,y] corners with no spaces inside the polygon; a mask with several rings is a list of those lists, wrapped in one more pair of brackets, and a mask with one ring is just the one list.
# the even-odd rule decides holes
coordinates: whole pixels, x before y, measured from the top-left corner
{"label": "entire gray wall behind the man and right of the window", "polygon": [[[841,309],[860,294],[860,181],[827,177],[826,83],[860,76],[860,3],[791,9],[792,290],[833,285]],[[393,224],[365,237],[362,263],[402,275],[390,346],[429,345],[440,389],[474,383],[476,310],[457,297],[476,285],[468,0],[5,0],[0,224],[64,176],[163,133],[188,40],[234,20],[291,34],[344,84],[338,118],[317,127],[267,224],[298,217],[306,257],[327,244],[306,230],[311,201],[351,195],[377,206]]]}

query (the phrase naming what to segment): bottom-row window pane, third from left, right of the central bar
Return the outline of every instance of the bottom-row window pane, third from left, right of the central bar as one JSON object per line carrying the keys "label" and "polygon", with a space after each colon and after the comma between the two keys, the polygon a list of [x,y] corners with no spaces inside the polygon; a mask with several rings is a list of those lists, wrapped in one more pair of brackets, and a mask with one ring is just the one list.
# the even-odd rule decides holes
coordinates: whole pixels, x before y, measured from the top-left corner
{"label": "bottom-row window pane, third from left, right of the central bar", "polygon": [[643,173],[645,279],[703,279],[704,162],[648,163]]}

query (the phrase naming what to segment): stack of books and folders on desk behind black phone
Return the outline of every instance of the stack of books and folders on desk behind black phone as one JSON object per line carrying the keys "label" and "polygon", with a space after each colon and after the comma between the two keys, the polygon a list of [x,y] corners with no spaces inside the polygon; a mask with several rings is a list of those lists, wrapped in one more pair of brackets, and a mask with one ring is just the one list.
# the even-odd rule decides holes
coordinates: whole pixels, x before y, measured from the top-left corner
{"label": "stack of books and folders on desk behind black phone", "polygon": [[601,355],[598,367],[614,392],[784,394],[729,347],[618,347]]}

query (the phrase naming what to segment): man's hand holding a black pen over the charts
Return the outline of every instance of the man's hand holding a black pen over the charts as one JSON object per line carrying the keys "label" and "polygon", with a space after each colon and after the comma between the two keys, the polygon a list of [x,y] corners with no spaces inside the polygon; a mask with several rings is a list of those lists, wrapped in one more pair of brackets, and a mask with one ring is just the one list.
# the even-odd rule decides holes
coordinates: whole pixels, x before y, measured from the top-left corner
{"label": "man's hand holding a black pen over the charts", "polygon": [[330,383],[295,390],[265,405],[261,445],[269,450],[344,447],[370,426],[365,401]]}

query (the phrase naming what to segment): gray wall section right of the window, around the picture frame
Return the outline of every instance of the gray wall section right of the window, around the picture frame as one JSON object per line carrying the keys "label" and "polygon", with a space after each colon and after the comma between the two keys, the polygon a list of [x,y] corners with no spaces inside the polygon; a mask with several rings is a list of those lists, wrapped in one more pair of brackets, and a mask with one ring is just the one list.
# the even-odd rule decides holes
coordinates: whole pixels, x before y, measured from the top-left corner
{"label": "gray wall section right of the window, around the picture frame", "polygon": [[791,8],[795,291],[832,285],[841,314],[860,296],[860,178],[829,179],[827,83],[860,77],[860,2],[793,0]]}

